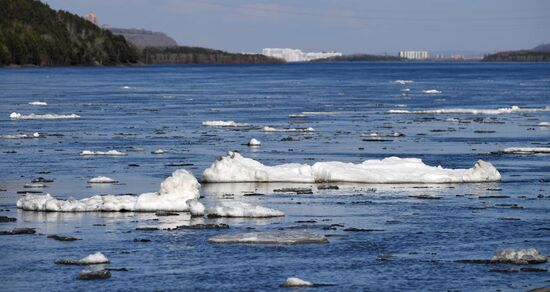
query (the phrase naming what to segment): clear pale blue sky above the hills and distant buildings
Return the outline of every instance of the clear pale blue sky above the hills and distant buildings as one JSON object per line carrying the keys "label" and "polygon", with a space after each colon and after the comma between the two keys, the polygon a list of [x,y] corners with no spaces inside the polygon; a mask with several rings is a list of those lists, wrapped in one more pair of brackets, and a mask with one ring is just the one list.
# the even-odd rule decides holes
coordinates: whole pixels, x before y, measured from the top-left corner
{"label": "clear pale blue sky above the hills and distant buildings", "polygon": [[258,52],[494,51],[550,42],[549,0],[43,0],[181,45]]}

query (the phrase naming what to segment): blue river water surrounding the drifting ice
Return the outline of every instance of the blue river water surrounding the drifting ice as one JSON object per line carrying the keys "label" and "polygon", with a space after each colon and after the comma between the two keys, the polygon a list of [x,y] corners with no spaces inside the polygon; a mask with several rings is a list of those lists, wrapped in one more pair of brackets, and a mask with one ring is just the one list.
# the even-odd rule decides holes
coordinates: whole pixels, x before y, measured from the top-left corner
{"label": "blue river water surrounding the drifting ice", "polygon": [[[410,80],[400,84],[396,80]],[[429,94],[435,89],[440,93]],[[46,106],[29,102],[43,101]],[[513,265],[459,263],[490,258],[502,248],[537,248],[550,255],[550,155],[491,152],[550,147],[550,112],[390,114],[390,110],[498,109],[550,106],[550,64],[328,63],[242,66],[153,66],[0,69],[0,230],[33,227],[37,234],[0,236],[0,290],[276,290],[291,276],[323,291],[525,291],[548,287],[549,272],[495,272]],[[12,112],[77,114],[79,119],[13,120]],[[314,114],[302,115],[303,112]],[[289,117],[290,115],[290,117]],[[297,115],[297,116],[293,116]],[[248,127],[206,127],[205,121]],[[314,132],[262,132],[312,127]],[[370,139],[378,133],[382,139]],[[393,133],[403,135],[394,137]],[[259,148],[246,143],[256,138]],[[132,151],[142,148],[143,151]],[[119,150],[122,157],[82,157],[83,150]],[[153,154],[154,150],[166,150]],[[200,178],[217,157],[236,150],[268,165],[388,156],[469,168],[491,162],[502,182],[441,185],[204,184],[204,202],[241,200],[285,213],[276,219],[193,219],[227,223],[224,230],[136,230],[174,227],[189,217],[148,213],[41,213],[15,203],[33,189],[58,198],[140,194],[158,190],[174,170]],[[177,166],[180,164],[180,166]],[[181,166],[183,165],[183,166]],[[95,176],[120,183],[89,185]],[[280,187],[313,187],[281,194]],[[245,191],[264,196],[243,196]],[[233,194],[230,196],[228,194]],[[418,196],[437,196],[425,200]],[[297,223],[296,221],[315,221]],[[343,227],[381,229],[347,232]],[[328,244],[211,244],[214,235],[309,230]],[[81,240],[59,242],[48,234]],[[150,242],[135,242],[135,238]],[[96,251],[111,259],[112,278],[79,281],[81,267],[58,258]],[[549,265],[535,267],[548,269]]]}

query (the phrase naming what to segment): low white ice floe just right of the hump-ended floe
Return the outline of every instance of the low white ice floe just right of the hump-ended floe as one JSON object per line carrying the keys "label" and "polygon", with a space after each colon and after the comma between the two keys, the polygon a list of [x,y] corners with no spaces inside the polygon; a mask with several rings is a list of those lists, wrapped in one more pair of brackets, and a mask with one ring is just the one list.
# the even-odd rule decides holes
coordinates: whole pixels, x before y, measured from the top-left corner
{"label": "low white ice floe just right of the hump-ended floe", "polygon": [[282,217],[285,213],[266,208],[255,206],[243,202],[221,202],[218,206],[206,210],[209,218],[217,217],[243,217],[243,218],[268,218]]}

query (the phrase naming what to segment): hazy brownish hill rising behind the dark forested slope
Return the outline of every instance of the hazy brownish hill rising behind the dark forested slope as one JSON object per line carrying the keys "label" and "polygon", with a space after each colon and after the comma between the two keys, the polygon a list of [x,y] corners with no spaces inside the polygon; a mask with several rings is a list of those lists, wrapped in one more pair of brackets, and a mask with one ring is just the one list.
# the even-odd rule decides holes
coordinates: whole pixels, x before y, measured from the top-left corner
{"label": "hazy brownish hill rising behind the dark forested slope", "polygon": [[152,32],[144,29],[109,28],[116,34],[123,36],[137,47],[174,47],[178,43],[162,32]]}

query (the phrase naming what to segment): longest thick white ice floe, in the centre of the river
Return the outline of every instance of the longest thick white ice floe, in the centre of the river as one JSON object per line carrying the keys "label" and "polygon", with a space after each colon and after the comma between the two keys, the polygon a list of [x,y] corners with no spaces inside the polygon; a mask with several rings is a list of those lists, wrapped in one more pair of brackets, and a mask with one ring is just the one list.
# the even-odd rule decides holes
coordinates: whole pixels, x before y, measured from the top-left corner
{"label": "longest thick white ice floe, in the centre of the river", "polygon": [[218,158],[202,176],[204,182],[355,182],[355,183],[462,183],[500,181],[498,170],[478,160],[472,168],[429,166],[417,158],[389,157],[363,163],[317,162],[267,166],[229,152]]}

